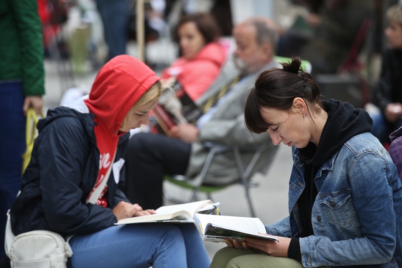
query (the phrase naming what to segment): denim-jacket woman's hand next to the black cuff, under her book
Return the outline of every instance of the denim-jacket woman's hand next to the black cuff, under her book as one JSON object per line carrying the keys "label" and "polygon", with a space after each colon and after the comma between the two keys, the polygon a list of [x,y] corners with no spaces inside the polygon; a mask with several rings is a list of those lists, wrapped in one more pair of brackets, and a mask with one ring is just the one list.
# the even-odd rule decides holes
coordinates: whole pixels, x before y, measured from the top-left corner
{"label": "denim-jacket woman's hand next to the black cuff, under her book", "polygon": [[[246,238],[246,246],[255,250],[265,252],[269,256],[288,257],[288,249],[291,239],[276,237],[279,242],[265,239]],[[245,248],[243,246],[243,248]]]}

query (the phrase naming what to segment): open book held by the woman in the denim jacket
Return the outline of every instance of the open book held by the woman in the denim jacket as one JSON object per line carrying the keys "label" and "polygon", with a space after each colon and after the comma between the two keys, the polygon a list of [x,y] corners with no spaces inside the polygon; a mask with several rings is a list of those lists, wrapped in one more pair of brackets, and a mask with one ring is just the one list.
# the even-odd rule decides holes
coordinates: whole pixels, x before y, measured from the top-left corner
{"label": "open book held by the woman in the denim jacket", "polygon": [[204,241],[224,242],[224,238],[241,240],[244,237],[278,241],[276,237],[262,235],[267,231],[258,218],[196,214],[194,221]]}

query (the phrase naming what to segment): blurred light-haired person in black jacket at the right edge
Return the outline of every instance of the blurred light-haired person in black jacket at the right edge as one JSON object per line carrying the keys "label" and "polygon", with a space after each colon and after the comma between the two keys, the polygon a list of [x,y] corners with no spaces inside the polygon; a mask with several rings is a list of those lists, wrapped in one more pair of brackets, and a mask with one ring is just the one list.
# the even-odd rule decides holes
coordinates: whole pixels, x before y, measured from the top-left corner
{"label": "blurred light-haired person in black jacket at the right edge", "polygon": [[372,103],[379,109],[369,110],[373,118],[372,133],[386,147],[390,144],[390,134],[402,126],[402,5],[391,6],[387,18],[388,47],[382,56],[381,77],[372,97]]}

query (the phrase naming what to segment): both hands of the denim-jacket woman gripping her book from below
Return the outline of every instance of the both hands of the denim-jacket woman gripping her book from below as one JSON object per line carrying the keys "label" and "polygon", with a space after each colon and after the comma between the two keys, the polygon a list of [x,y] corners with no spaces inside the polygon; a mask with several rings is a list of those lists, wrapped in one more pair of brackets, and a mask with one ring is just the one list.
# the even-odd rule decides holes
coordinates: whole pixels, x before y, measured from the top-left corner
{"label": "both hands of the denim-jacket woman gripping her book from below", "polygon": [[251,248],[265,252],[269,256],[287,258],[291,239],[286,237],[275,237],[279,240],[279,242],[265,239],[245,238],[244,241],[225,239],[225,243],[229,248],[242,248],[243,250],[248,250]]}

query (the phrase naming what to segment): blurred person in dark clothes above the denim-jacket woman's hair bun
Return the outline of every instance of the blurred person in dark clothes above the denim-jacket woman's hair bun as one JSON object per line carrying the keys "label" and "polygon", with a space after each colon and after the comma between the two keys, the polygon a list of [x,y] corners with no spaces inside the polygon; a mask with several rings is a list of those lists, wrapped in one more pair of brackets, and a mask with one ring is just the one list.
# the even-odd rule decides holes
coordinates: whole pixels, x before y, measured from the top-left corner
{"label": "blurred person in dark clothes above the denim-jacket woman's hair bun", "polygon": [[[336,73],[346,60],[372,0],[298,0],[307,8],[278,44],[278,55],[309,60],[313,73]],[[357,12],[357,10],[359,10]]]}

